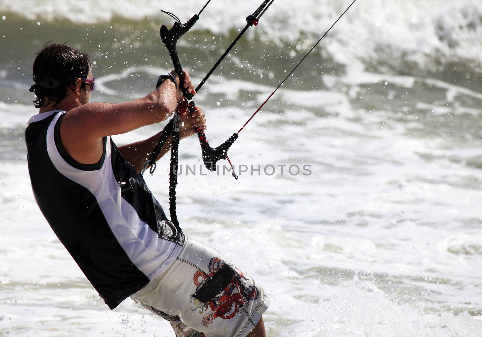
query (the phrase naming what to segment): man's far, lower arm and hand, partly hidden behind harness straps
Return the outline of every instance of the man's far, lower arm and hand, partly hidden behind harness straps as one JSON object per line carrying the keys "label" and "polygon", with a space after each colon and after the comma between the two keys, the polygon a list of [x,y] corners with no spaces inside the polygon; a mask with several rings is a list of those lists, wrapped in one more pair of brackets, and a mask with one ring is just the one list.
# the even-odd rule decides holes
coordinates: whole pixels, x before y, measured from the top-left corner
{"label": "man's far, lower arm and hand, partly hidden behind harness straps", "polygon": [[[181,139],[194,135],[196,133],[195,128],[197,127],[201,130],[206,129],[206,118],[201,108],[197,107],[196,111],[192,113],[192,117],[189,116],[184,104],[179,104],[176,112],[181,115],[181,127],[179,128],[179,136]],[[154,150],[160,135],[161,132],[145,140],[121,146],[119,148],[120,154],[126,161],[134,166],[136,172],[140,172],[142,165],[147,161],[151,152]],[[171,141],[172,136],[167,139],[162,147],[161,153],[156,158],[156,161],[169,151],[171,148]]]}

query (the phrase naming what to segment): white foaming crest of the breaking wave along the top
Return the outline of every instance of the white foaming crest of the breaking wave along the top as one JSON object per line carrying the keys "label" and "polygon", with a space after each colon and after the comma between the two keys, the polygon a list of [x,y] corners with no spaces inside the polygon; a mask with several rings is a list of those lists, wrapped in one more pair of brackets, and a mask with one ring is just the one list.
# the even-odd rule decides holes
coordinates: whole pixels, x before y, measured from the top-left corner
{"label": "white foaming crest of the breaking wave along the top", "polygon": [[[123,20],[167,23],[171,19],[162,14],[161,9],[176,13],[186,21],[204,2],[190,0],[186,6],[186,2],[147,0],[0,0],[0,11],[6,20],[10,12],[39,22],[64,18],[85,24]],[[258,2],[213,1],[194,29],[219,35],[239,29],[245,25],[244,17],[254,11]],[[256,34],[281,47],[294,44],[306,49],[349,3],[349,0],[326,0],[294,4],[290,0],[277,0],[263,17]],[[364,67],[375,65],[378,70],[383,67],[404,69],[410,65],[441,71],[456,64],[466,71],[480,73],[480,36],[481,1],[359,0],[326,37],[320,51],[340,63],[359,61]]]}

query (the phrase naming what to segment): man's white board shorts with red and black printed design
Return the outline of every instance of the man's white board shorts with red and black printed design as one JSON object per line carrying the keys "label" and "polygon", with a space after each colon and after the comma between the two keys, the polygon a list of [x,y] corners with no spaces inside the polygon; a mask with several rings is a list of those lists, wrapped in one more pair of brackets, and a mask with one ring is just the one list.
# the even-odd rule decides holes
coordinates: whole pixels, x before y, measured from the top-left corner
{"label": "man's white board shorts with red and black printed design", "polygon": [[[221,268],[223,271],[214,277]],[[232,274],[219,281],[226,270]],[[201,302],[192,297],[201,293],[210,299]],[[195,337],[199,332],[206,337],[245,337],[270,303],[252,277],[223,254],[187,237],[174,263],[131,298],[171,322],[177,337]]]}

